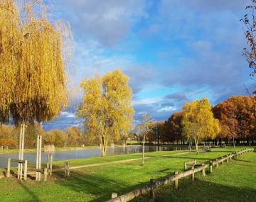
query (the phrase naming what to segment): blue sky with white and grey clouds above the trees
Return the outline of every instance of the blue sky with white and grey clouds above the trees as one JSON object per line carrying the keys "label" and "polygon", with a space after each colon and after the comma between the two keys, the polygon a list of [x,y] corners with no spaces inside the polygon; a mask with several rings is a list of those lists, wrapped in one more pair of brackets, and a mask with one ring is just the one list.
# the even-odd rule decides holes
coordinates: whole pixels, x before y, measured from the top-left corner
{"label": "blue sky with white and grey clouds above the trees", "polygon": [[[212,106],[254,91],[242,49],[248,0],[48,0],[48,11],[74,35],[73,86],[120,69],[133,90],[134,117],[168,120],[185,101]],[[78,93],[75,103],[81,101]],[[74,104],[75,106],[75,104]],[[44,130],[76,125],[75,107]]]}

